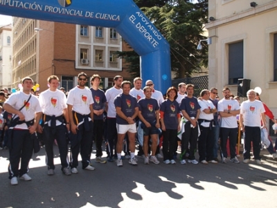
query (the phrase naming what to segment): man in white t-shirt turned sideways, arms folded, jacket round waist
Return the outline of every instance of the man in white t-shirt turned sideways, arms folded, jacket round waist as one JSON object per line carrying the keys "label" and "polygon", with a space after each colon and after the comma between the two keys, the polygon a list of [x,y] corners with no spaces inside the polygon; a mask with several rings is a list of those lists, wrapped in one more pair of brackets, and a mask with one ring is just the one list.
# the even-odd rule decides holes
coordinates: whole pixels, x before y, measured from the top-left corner
{"label": "man in white t-shirt turned sideways, arms folded, jacket round waist", "polygon": [[217,112],[217,109],[213,102],[209,100],[210,91],[203,90],[200,96],[202,100],[198,100],[201,106],[198,119],[201,131],[198,138],[199,161],[202,164],[208,164],[208,162],[217,163],[217,161],[213,160],[213,113]]}

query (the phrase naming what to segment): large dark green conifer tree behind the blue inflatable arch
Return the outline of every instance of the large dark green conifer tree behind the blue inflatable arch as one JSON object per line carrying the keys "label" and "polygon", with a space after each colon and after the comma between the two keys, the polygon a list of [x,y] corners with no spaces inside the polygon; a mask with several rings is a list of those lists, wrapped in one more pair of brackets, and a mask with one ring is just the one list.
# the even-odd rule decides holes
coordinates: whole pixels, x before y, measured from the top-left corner
{"label": "large dark green conifer tree behind the blue inflatable arch", "polygon": [[[141,10],[154,23],[170,44],[171,68],[176,72],[176,78],[190,77],[201,66],[208,65],[208,47],[203,44],[202,50],[197,50],[200,39],[206,39],[202,34],[204,24],[208,19],[208,1],[135,1]],[[153,6],[154,5],[154,6]],[[203,43],[203,42],[202,42]],[[125,56],[129,62],[130,73],[139,75],[139,57],[136,53],[118,53]],[[128,60],[127,60],[127,59]]]}

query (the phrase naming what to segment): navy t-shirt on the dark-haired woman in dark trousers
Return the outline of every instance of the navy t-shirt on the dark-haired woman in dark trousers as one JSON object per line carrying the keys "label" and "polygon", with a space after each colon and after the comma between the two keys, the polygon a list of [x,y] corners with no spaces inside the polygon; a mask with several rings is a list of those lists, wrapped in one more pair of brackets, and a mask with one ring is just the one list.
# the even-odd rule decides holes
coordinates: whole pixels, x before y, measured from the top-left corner
{"label": "navy t-shirt on the dark-haired woman in dark trousers", "polygon": [[178,118],[177,114],[181,111],[179,103],[174,100],[164,100],[161,103],[161,109],[163,114],[163,122],[166,126],[166,129],[178,129]]}

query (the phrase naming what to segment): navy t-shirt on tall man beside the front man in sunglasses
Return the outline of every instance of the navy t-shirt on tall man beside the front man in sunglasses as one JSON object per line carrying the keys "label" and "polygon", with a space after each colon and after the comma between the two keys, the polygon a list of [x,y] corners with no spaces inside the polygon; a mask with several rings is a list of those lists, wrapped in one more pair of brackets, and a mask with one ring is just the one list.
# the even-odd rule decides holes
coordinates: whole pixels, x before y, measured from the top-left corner
{"label": "navy t-shirt on tall man beside the front man in sunglasses", "polygon": [[[91,94],[93,97],[94,103],[92,104],[93,110],[99,111],[104,108],[105,102],[107,102],[106,95],[104,91],[98,89],[97,91],[90,88]],[[102,120],[104,118],[103,113],[102,115],[96,115],[93,113],[93,120]]]}

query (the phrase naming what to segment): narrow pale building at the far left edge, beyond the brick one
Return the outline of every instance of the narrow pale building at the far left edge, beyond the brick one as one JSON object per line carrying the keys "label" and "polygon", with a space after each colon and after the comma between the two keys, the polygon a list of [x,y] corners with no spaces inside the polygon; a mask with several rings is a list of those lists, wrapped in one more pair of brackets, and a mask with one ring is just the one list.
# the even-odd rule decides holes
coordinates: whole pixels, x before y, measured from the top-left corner
{"label": "narrow pale building at the far left edge, beyond the brick one", "polygon": [[0,88],[12,88],[12,25],[0,26]]}

